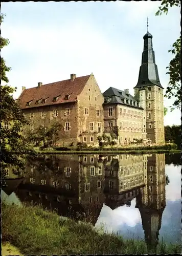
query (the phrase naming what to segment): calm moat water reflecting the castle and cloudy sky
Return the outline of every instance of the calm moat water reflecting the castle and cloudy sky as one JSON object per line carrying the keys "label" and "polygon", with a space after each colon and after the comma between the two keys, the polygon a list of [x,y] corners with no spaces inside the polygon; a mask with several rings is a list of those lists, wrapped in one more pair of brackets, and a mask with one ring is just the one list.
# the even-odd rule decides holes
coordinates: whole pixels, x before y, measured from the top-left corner
{"label": "calm moat water reflecting the castle and cloudy sky", "polygon": [[181,241],[180,171],[179,154],[44,155],[26,161],[22,179],[10,170],[2,199],[42,204],[155,247],[162,237]]}

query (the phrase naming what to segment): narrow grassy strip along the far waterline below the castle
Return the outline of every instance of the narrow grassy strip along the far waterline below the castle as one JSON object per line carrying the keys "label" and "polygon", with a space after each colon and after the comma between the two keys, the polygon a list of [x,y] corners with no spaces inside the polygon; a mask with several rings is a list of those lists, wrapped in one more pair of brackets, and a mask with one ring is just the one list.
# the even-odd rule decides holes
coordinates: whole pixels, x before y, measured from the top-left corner
{"label": "narrow grassy strip along the far waterline below the castle", "polygon": [[100,154],[100,155],[107,155],[107,154],[111,154],[111,155],[118,155],[118,154],[163,154],[163,153],[180,153],[180,150],[127,150],[127,151],[122,151],[122,150],[111,150],[111,151],[87,151],[87,150],[80,150],[80,151],[48,151],[48,150],[36,150],[38,153],[41,154],[62,154],[62,155],[66,155],[66,154],[79,154],[79,155],[86,155],[86,154]]}

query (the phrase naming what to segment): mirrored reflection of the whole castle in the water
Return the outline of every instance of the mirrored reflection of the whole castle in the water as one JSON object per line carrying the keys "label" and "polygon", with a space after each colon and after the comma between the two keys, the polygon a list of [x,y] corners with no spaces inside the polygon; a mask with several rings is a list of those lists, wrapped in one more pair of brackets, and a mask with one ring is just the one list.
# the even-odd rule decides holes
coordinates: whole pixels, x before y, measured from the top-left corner
{"label": "mirrored reflection of the whole castle in the water", "polygon": [[[165,202],[165,154],[46,155],[26,162],[16,189],[21,201],[94,225],[105,203],[139,208],[147,246],[155,248]],[[79,214],[78,214],[79,213]]]}

